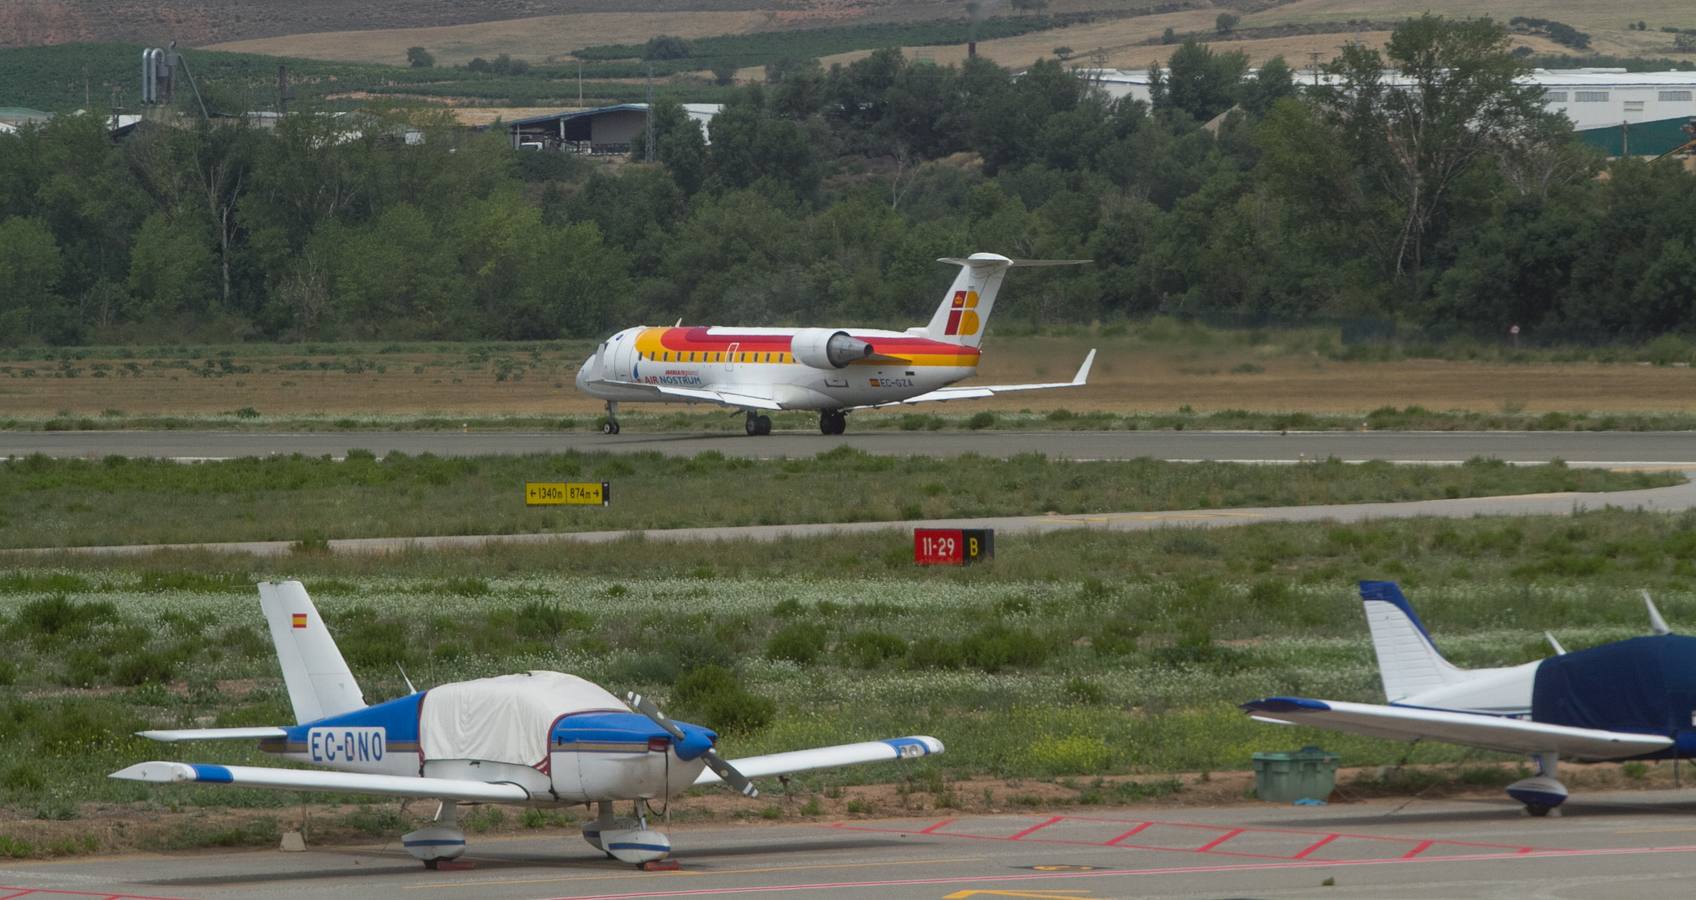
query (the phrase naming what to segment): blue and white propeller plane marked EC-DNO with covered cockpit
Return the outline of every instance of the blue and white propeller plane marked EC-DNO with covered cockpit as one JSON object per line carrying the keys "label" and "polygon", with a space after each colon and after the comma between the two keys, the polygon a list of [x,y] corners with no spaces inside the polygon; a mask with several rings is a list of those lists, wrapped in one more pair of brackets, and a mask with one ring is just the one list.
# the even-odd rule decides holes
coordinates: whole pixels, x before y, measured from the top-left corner
{"label": "blue and white propeller plane marked EC-DNO with covered cockpit", "polygon": [[[458,803],[594,803],[599,817],[583,825],[583,839],[643,864],[672,853],[670,839],[648,827],[648,800],[670,803],[716,783],[756,797],[750,778],[943,753],[934,737],[894,737],[728,761],[712,731],[667,719],[646,697],[629,695],[626,705],[556,671],[458,681],[368,707],[300,581],[261,583],[259,605],[298,724],[139,734],[256,739],[261,751],[332,771],[151,761],[112,778],[439,800],[436,820],[402,837],[427,868],[465,853]],[[633,819],[614,815],[617,800],[634,803]]]}

